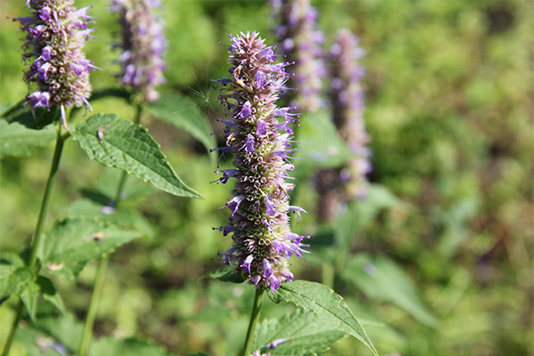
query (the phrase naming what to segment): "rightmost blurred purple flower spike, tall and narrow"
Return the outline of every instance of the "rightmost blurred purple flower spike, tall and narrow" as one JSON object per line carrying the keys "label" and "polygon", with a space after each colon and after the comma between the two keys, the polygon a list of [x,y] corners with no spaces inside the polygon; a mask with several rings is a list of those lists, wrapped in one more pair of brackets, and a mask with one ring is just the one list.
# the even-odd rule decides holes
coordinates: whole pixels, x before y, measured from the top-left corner
{"label": "rightmost blurred purple flower spike, tall and narrow", "polygon": [[367,193],[366,174],[371,171],[368,158],[368,134],[363,119],[363,90],[360,85],[364,68],[358,64],[365,52],[358,46],[358,37],[348,29],[336,34],[330,49],[332,61],[331,98],[333,119],[338,133],[354,153],[340,180],[349,199],[362,198]]}

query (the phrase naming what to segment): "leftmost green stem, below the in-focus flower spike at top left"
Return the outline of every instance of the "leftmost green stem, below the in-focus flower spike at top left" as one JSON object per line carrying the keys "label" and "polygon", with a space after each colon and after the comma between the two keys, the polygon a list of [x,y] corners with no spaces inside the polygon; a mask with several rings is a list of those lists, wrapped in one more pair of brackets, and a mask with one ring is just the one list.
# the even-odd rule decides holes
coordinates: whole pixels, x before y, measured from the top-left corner
{"label": "leftmost green stem, below the in-focus flower spike at top left", "polygon": [[[37,265],[37,252],[41,245],[42,240],[42,231],[44,221],[46,220],[46,214],[48,213],[48,203],[50,202],[50,195],[53,189],[53,182],[56,174],[58,173],[58,167],[60,166],[61,152],[63,151],[63,143],[69,137],[69,134],[61,135],[61,127],[57,129],[57,138],[55,149],[53,150],[52,165],[50,166],[50,172],[48,174],[48,179],[46,181],[46,186],[44,188],[43,201],[41,202],[41,208],[39,210],[39,216],[37,218],[36,231],[34,233],[33,239],[31,240],[30,252],[28,267],[30,270],[38,271],[39,266]],[[17,307],[15,309],[15,318],[12,321],[12,326],[9,330],[7,339],[5,340],[4,350],[2,356],[7,356],[12,346],[15,333],[19,326],[20,317],[22,316],[22,301],[19,299]]]}

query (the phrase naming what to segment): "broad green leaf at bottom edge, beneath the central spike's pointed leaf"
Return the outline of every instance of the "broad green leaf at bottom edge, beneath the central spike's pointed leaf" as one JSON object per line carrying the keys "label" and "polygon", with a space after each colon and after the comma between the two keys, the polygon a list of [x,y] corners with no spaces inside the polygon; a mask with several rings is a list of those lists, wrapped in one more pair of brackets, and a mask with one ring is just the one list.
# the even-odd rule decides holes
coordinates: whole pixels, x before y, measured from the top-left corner
{"label": "broad green leaf at bottom edge, beneath the central spike's pointed leaf", "polygon": [[280,320],[264,320],[256,329],[252,350],[265,349],[275,340],[287,339],[268,352],[273,356],[317,355],[343,336],[344,333],[320,321],[313,313],[298,309]]}

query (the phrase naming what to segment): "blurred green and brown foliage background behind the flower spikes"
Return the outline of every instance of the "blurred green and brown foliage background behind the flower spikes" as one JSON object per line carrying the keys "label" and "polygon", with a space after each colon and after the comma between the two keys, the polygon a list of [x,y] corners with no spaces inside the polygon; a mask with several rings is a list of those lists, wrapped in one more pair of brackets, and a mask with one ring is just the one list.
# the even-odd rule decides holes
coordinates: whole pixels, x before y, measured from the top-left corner
{"label": "blurred green and brown foliage background behind the flower spikes", "polygon": [[[270,5],[245,0],[163,3],[168,51],[162,90],[190,96],[215,127],[223,110],[209,79],[228,73],[226,48],[217,42],[228,43],[229,33],[258,30],[274,44]],[[76,4],[93,4],[98,18],[96,37],[85,47],[87,58],[102,69],[91,75],[93,88],[117,85],[118,52],[110,50],[117,42],[115,15],[102,0]],[[376,285],[366,289],[361,279],[360,284],[342,283],[337,292],[364,322],[381,354],[532,354],[534,4],[312,4],[319,9],[328,46],[339,28],[351,28],[360,36],[367,52],[363,85],[372,138],[370,180],[396,196],[395,204],[378,204],[364,226],[349,231],[344,248],[355,262],[347,266],[366,258],[376,266],[379,261],[394,263],[412,280],[418,302],[411,309],[392,302],[398,290],[394,279],[384,279],[382,294]],[[22,34],[7,18],[27,14],[23,5],[20,0],[0,3],[1,103],[20,101],[27,93],[21,80]],[[93,111],[133,119],[133,109],[116,99],[93,102]],[[311,131],[306,124],[303,113],[303,142]],[[245,336],[253,288],[198,280],[218,266],[212,260],[216,252],[231,245],[231,239],[211,230],[227,219],[226,211],[217,207],[227,201],[231,186],[209,184],[216,167],[190,135],[150,115],[142,117],[142,125],[161,144],[176,172],[205,199],[175,198],[130,179],[136,197],[125,205],[142,212],[154,238],[137,240],[112,255],[95,334],[142,336],[178,355],[235,354]],[[0,161],[2,251],[28,245],[51,157],[48,148]],[[314,239],[320,241],[316,234],[325,236],[334,229],[317,225],[312,168],[302,166],[295,204],[310,214],[294,229],[312,234],[313,246]],[[69,141],[48,225],[66,216],[86,189],[109,189],[113,172],[104,171]],[[315,253],[308,263],[294,261],[295,277],[321,281],[328,270],[326,249],[312,247]],[[96,263],[89,264],[76,284],[60,282],[67,307],[79,320],[85,316],[95,268]],[[12,319],[12,304],[0,308],[0,344]],[[291,310],[267,302],[263,318]],[[26,354],[21,344],[13,350]],[[345,337],[328,354],[370,352]]]}

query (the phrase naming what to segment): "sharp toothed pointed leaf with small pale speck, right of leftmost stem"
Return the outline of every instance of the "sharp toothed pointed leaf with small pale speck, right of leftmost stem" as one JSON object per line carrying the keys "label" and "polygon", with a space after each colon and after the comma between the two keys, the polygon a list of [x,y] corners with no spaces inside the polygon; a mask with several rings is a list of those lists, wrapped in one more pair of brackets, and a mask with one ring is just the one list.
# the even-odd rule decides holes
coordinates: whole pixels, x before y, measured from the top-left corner
{"label": "sharp toothed pointed leaf with small pale speck, right of leftmost stem", "polygon": [[158,143],[140,125],[97,114],[79,123],[71,134],[89,158],[104,166],[122,169],[180,197],[202,198],[174,173]]}

